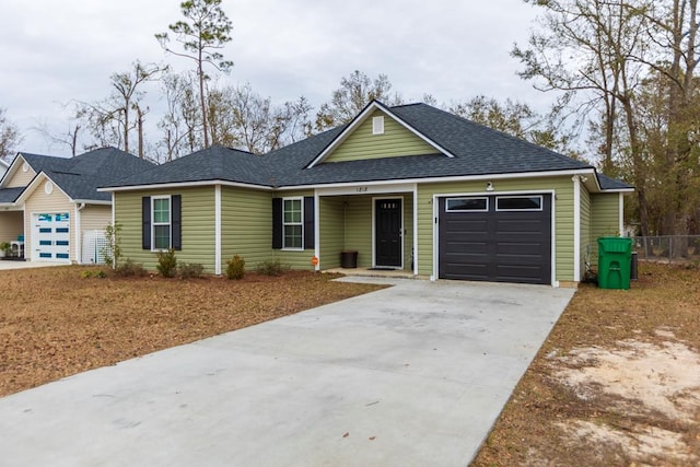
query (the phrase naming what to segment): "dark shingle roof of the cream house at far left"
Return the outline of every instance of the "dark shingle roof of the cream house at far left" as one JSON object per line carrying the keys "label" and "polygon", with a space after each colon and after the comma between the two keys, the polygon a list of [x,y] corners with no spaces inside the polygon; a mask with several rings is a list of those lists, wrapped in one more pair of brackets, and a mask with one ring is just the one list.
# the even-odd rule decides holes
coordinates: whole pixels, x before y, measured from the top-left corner
{"label": "dark shingle roof of the cream house at far left", "polygon": [[66,195],[77,200],[109,201],[97,187],[153,168],[155,165],[120,151],[102,148],[72,159],[21,153],[37,174],[44,172]]}

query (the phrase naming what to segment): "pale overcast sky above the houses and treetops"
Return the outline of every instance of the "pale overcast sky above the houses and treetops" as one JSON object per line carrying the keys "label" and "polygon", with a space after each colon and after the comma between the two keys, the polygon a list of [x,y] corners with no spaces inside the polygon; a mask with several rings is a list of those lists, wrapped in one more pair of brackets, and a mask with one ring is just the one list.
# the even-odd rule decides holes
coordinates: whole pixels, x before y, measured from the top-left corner
{"label": "pale overcast sky above the houses and treetops", "polygon": [[[249,82],[273,103],[304,95],[317,108],[355,69],[387,74],[408,102],[485,94],[545,109],[551,101],[509,55],[537,13],[523,0],[224,0],[223,9],[234,26],[223,54],[235,66],[221,82]],[[109,75],[136,59],[190,67],[153,37],[180,19],[177,0],[3,0],[0,107],[24,135],[20,150],[67,155],[31,128],[65,131],[61,104],[106,97]]]}

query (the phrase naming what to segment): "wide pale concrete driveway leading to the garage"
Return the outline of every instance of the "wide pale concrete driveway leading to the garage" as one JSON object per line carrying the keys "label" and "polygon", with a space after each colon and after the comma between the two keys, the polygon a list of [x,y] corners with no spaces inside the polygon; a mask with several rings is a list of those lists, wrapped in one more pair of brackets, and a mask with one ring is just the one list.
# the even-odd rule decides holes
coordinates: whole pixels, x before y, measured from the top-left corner
{"label": "wide pale concrete driveway leading to the garage", "polygon": [[1,398],[2,464],[465,466],[573,290],[393,281]]}

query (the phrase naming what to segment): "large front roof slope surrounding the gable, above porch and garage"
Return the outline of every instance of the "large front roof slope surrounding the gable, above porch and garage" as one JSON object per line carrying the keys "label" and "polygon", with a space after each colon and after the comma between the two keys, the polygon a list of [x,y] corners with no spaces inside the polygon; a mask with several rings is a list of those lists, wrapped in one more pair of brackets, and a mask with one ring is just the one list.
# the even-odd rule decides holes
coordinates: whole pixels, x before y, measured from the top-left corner
{"label": "large front roof slope surrounding the gable, above porch and garage", "polygon": [[447,150],[442,153],[308,165],[342,129],[268,155],[278,186],[431,178],[592,168],[548,149],[475,124],[425,104],[390,108],[417,131]]}

